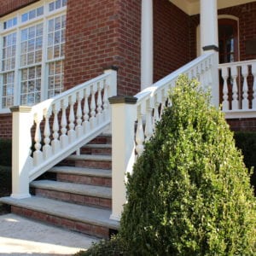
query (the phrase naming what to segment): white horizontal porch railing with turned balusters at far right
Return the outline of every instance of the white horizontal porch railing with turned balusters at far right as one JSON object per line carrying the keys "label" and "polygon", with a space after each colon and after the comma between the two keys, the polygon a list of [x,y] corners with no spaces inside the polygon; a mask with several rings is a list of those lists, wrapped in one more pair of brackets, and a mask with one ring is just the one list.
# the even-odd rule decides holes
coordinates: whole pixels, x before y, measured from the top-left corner
{"label": "white horizontal porch railing with turned balusters at far right", "polygon": [[224,63],[220,73],[220,103],[227,119],[256,116],[256,60]]}

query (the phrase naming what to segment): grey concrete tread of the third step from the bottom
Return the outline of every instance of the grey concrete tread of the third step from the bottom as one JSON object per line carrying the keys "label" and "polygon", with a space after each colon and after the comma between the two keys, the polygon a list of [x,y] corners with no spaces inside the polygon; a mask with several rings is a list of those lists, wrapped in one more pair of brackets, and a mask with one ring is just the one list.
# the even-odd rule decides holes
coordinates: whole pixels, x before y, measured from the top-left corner
{"label": "grey concrete tread of the third step from the bottom", "polygon": [[93,176],[93,177],[112,177],[111,170],[86,168],[86,167],[75,167],[75,166],[55,166],[48,172],[74,174],[81,176]]}

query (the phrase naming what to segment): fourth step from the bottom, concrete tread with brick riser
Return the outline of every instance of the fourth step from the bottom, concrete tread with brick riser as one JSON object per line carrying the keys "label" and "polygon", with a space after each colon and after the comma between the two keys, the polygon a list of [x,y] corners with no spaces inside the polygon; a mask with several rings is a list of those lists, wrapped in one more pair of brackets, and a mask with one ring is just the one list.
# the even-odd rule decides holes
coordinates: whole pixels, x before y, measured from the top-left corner
{"label": "fourth step from the bottom, concrete tread with brick riser", "polygon": [[90,167],[109,170],[112,168],[112,157],[111,155],[102,154],[72,154],[61,163],[67,166]]}

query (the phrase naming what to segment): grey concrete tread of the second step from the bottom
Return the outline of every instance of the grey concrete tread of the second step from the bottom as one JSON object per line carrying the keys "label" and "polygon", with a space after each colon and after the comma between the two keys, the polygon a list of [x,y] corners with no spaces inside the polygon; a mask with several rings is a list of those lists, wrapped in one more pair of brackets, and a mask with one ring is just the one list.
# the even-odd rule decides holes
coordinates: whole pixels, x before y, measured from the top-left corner
{"label": "grey concrete tread of the second step from the bottom", "polygon": [[37,180],[30,183],[30,186],[36,189],[49,189],[54,191],[67,192],[70,194],[89,195],[107,199],[111,199],[112,196],[111,188],[79,183],[66,183],[54,180]]}

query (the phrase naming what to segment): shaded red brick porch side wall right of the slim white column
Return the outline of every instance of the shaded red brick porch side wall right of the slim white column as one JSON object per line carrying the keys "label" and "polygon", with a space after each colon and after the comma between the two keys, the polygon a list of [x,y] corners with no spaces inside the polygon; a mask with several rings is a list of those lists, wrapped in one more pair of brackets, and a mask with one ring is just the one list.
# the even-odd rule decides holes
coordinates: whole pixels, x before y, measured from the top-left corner
{"label": "shaded red brick porch side wall right of the slim white column", "polygon": [[154,81],[189,61],[189,15],[168,0],[154,0]]}

